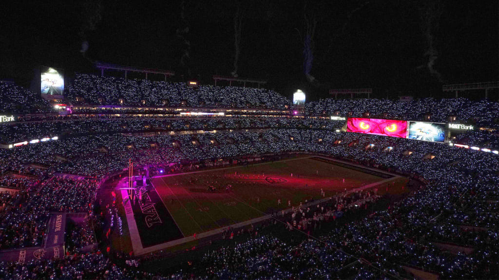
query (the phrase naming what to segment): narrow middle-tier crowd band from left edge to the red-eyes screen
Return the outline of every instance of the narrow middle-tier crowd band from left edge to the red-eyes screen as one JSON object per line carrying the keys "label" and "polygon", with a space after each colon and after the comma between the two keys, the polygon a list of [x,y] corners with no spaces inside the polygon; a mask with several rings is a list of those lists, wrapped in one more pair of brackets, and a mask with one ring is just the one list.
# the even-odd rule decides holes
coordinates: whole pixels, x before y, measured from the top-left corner
{"label": "narrow middle-tier crowd band from left edge to the red-eyes screen", "polygon": [[297,118],[89,118],[44,122],[18,122],[0,127],[0,142],[13,143],[53,136],[110,133],[247,130],[271,128],[340,129],[341,123]]}

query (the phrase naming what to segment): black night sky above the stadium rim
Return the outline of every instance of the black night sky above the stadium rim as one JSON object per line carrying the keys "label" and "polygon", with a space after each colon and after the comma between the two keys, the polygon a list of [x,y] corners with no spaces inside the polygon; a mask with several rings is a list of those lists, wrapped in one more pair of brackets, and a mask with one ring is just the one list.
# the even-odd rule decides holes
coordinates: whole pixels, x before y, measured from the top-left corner
{"label": "black night sky above the stadium rim", "polygon": [[[19,85],[37,65],[70,78],[97,73],[92,61],[171,69],[210,84],[213,74],[233,71],[235,0],[20,1],[2,9],[0,79]],[[255,0],[240,10],[239,76],[266,79],[289,97],[297,88],[314,100],[331,88],[364,87],[376,97],[444,97],[442,84],[498,80],[497,0]],[[316,20],[313,83],[303,71],[305,12]],[[439,77],[427,67],[428,34]],[[182,65],[184,38],[190,57]]]}

